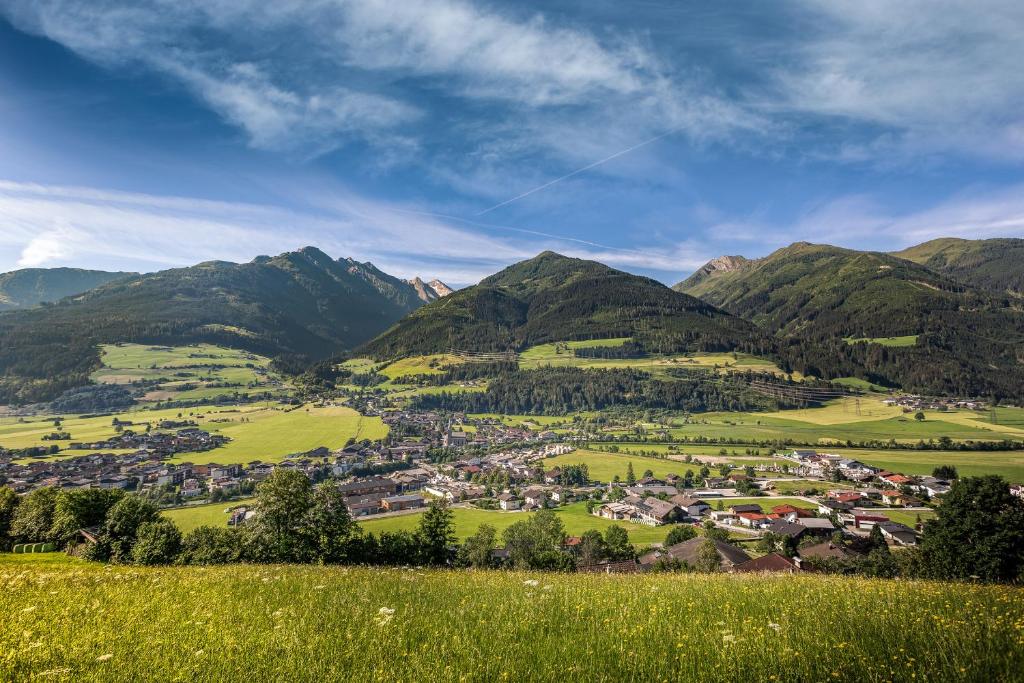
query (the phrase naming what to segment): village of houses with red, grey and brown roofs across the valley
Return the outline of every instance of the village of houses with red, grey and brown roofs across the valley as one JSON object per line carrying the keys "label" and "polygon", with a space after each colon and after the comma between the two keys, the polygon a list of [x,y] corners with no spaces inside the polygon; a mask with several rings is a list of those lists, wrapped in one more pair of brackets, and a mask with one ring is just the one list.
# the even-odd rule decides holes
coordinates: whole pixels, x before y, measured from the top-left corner
{"label": "village of houses with red, grey and brown roofs across the valley", "polygon": [[[335,481],[350,515],[360,521],[416,514],[438,499],[454,507],[509,514],[581,503],[590,515],[608,522],[691,526],[706,533],[719,529],[713,541],[721,570],[787,572],[801,570],[810,558],[848,559],[854,551],[843,540],[864,540],[872,529],[888,545],[914,546],[922,516],[933,513],[951,484],[948,478],[905,475],[806,449],[776,452],[770,465],[723,466],[714,473],[699,457],[685,456],[679,474],[662,477],[650,471],[636,476],[633,463],[642,467],[644,458],[624,458],[630,463],[625,479],[599,481],[590,477],[586,465],[546,465],[578,447],[565,433],[430,412],[381,411],[381,417],[391,434],[382,441],[351,442],[335,451],[319,447],[280,462],[225,464],[179,462],[181,454],[215,452],[226,442],[188,422],[167,422],[141,433],[122,423],[114,437],[73,444],[95,451],[88,455],[25,459],[0,453],[0,477],[19,494],[42,486],[100,487],[132,490],[170,507],[223,502],[230,510],[229,526],[252,517],[247,497],[279,469],[300,472],[313,482]],[[110,453],[115,450],[122,453]],[[694,475],[696,469],[700,474]],[[776,495],[776,484],[784,479],[802,481],[807,490]],[[842,487],[835,484],[839,481]],[[1024,496],[1020,485],[1013,492]],[[239,503],[231,505],[233,500]],[[752,556],[751,544],[765,539],[777,552]],[[654,543],[632,559],[603,559],[581,569],[631,572],[692,565],[699,542]],[[565,552],[575,552],[580,543],[569,536]],[[502,552],[496,549],[496,558]]]}

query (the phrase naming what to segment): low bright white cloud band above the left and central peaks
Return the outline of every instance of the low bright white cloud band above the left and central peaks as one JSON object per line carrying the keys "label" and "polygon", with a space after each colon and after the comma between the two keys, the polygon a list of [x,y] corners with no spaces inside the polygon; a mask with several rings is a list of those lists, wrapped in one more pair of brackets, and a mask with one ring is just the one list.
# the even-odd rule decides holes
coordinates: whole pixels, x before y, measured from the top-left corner
{"label": "low bright white cloud band above the left and central peaks", "polygon": [[[0,181],[0,269],[90,265],[160,269],[248,261],[304,245],[372,260],[393,274],[477,282],[545,249],[629,269],[665,271],[677,250],[616,249],[525,228],[414,212],[341,189],[305,197],[304,209]],[[465,221],[464,221],[465,223]],[[288,229],[283,229],[288,226]]]}

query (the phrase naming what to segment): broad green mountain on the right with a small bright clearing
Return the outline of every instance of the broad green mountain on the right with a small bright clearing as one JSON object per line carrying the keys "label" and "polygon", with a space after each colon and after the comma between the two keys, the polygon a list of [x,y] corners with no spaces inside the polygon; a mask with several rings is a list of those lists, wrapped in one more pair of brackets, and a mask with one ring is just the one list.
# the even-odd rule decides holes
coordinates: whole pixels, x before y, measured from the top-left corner
{"label": "broad green mountain on the right with a small bright clearing", "polygon": [[[797,243],[728,268],[709,263],[674,289],[775,335],[779,354],[806,374],[1024,395],[1024,313],[1015,302],[891,254]],[[847,341],[904,336],[914,343]]]}

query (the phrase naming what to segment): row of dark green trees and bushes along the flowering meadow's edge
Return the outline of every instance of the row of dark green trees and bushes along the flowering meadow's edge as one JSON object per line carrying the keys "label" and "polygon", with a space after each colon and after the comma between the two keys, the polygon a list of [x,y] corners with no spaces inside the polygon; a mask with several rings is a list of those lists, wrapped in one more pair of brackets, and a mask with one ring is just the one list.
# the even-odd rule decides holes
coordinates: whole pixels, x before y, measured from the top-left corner
{"label": "row of dark green trees and bushes along the flowering meadow's edge", "polygon": [[[313,485],[303,474],[284,470],[259,484],[254,513],[241,526],[200,526],[182,535],[153,503],[121,490],[44,487],[18,497],[8,487],[0,487],[0,550],[9,550],[19,542],[48,542],[90,560],[139,565],[287,562],[560,571],[636,557],[626,529],[617,525],[604,533],[589,530],[569,549],[562,520],[552,510],[522,515],[500,537],[493,526],[481,524],[459,544],[452,510],[443,501],[434,501],[416,529],[374,535],[351,518],[333,482]],[[89,537],[87,543],[83,543],[83,529]],[[955,481],[937,516],[925,522],[916,548],[891,553],[881,540],[881,531],[872,533],[866,548],[860,549],[869,551],[866,555],[811,562],[809,566],[825,572],[874,577],[1024,582],[1024,500],[1013,496],[998,476]],[[692,526],[673,526],[665,545],[695,535]],[[711,522],[706,523],[703,535],[728,541],[728,535]],[[772,541],[762,540],[768,546],[766,551],[792,552],[784,540],[776,540],[778,544]],[[848,543],[842,539],[835,542]],[[500,552],[496,552],[499,546]],[[666,561],[655,568],[701,567]]]}

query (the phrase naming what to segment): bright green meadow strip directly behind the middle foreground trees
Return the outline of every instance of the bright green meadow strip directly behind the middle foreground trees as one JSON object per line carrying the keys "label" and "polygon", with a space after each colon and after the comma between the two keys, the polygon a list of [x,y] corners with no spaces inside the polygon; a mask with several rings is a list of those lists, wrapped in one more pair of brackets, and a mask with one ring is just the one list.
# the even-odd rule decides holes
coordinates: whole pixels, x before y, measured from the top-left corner
{"label": "bright green meadow strip directly behind the middle foreground trees", "polygon": [[[460,540],[475,533],[480,524],[490,524],[501,533],[506,527],[511,526],[515,522],[527,519],[530,514],[528,512],[502,512],[500,510],[477,510],[475,508],[453,508],[452,512],[454,514],[456,536]],[[608,526],[615,524],[625,528],[627,533],[629,533],[630,542],[638,546],[662,543],[669,533],[669,529],[672,528],[671,524],[665,526],[644,526],[643,524],[631,524],[629,522],[595,517],[587,513],[586,503],[572,503],[571,505],[555,508],[555,512],[561,517],[562,522],[565,524],[565,532],[569,536],[580,536],[592,528],[603,532]],[[359,526],[375,533],[398,530],[411,531],[420,523],[422,514],[416,513],[359,521]]]}

